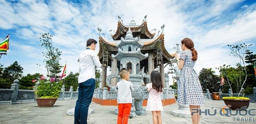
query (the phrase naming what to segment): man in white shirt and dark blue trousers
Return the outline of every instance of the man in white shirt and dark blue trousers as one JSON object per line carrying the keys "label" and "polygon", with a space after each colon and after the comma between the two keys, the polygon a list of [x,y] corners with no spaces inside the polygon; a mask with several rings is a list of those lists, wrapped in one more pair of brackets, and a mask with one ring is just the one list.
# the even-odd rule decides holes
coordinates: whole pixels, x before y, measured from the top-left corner
{"label": "man in white shirt and dark blue trousers", "polygon": [[81,72],[78,77],[78,100],[75,107],[75,124],[87,124],[87,116],[95,89],[95,66],[101,67],[99,57],[94,51],[97,41],[88,39],[87,49],[79,57]]}

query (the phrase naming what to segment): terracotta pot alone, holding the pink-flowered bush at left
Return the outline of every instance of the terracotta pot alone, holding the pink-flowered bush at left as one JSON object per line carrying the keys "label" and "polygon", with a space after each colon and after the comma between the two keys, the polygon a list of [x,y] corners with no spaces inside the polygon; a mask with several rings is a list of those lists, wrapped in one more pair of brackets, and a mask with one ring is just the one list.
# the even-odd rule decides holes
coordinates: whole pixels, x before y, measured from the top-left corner
{"label": "terracotta pot alone, holding the pink-flowered bush at left", "polygon": [[35,98],[38,107],[52,107],[58,98]]}

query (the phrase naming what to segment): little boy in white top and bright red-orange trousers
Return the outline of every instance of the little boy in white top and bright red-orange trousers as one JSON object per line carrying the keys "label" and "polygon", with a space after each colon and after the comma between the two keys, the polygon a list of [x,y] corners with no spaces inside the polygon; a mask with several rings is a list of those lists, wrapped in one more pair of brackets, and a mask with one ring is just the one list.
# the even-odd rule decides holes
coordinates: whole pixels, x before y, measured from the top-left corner
{"label": "little boy in white top and bright red-orange trousers", "polygon": [[132,106],[132,82],[129,80],[129,70],[123,68],[119,71],[121,81],[117,82],[117,104],[118,104],[118,117],[117,124],[127,124]]}

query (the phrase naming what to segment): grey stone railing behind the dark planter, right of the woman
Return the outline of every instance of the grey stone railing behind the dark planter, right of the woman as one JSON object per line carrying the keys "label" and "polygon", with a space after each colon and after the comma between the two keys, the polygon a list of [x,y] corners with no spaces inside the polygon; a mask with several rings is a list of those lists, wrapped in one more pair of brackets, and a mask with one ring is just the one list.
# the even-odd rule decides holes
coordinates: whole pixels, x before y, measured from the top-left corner
{"label": "grey stone railing behind the dark planter, right of the woman", "polygon": [[[222,93],[221,89],[219,89],[219,96],[220,99],[222,100],[222,97],[231,97],[232,96],[232,91],[231,89],[229,89],[229,93]],[[238,93],[233,93],[233,96],[237,97]],[[248,97],[250,98],[250,102],[256,102],[256,88],[253,88],[253,94],[244,94],[244,88],[242,89],[240,96],[242,97]],[[204,93],[204,98],[208,99],[208,100],[212,100],[212,94],[210,93],[210,91],[207,89],[206,93]]]}

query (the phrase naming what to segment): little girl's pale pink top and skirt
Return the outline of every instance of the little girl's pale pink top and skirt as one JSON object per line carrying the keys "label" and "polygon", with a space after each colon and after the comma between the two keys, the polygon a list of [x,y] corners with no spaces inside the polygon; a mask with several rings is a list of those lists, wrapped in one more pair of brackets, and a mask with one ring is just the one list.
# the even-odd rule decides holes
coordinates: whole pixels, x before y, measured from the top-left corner
{"label": "little girl's pale pink top and skirt", "polygon": [[147,100],[147,111],[163,111],[163,104],[160,94],[162,92],[157,92],[157,90],[152,89],[152,83],[146,85],[149,91]]}

